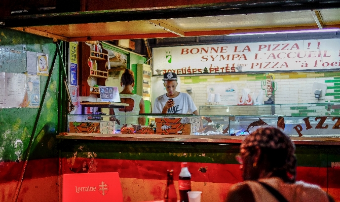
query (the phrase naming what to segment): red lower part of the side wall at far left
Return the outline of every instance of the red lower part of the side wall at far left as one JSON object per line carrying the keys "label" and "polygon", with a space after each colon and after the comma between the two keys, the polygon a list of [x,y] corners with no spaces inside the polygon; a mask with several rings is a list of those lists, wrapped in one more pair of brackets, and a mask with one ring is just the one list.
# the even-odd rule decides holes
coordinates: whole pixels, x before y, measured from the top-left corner
{"label": "red lower part of the side wall at far left", "polygon": [[[58,158],[29,160],[18,201],[58,201]],[[13,199],[23,162],[0,162],[0,201]]]}

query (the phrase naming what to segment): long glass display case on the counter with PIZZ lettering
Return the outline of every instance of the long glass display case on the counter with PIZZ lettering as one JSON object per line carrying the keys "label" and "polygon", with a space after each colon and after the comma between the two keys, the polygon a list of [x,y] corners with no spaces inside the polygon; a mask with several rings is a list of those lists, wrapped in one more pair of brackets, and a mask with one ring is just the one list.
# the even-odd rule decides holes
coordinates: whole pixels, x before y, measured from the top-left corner
{"label": "long glass display case on the counter with PIZZ lettering", "polygon": [[[145,126],[130,121],[144,117]],[[68,133],[245,136],[263,126],[281,128],[291,137],[340,137],[340,116],[287,115],[68,115]]]}

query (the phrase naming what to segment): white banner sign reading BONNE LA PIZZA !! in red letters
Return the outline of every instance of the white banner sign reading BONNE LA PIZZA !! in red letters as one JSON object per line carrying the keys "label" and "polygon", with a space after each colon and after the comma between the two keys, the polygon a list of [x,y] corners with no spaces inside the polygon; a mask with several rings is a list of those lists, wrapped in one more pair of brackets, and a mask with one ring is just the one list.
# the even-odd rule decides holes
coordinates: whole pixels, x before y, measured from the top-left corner
{"label": "white banner sign reading BONNE LA PIZZA !! in red letters", "polygon": [[340,38],[153,49],[153,75],[340,68]]}

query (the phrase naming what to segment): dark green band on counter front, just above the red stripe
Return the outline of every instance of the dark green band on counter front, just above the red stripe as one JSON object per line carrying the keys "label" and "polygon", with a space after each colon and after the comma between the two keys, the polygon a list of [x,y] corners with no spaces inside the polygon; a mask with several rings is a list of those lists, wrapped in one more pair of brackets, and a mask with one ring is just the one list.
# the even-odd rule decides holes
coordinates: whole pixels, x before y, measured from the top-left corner
{"label": "dark green band on counter front, just above the red stripe", "polygon": [[[84,152],[86,157],[91,151],[101,159],[238,164],[235,156],[240,152],[240,144],[62,140],[61,151],[65,158],[77,151],[78,156]],[[295,151],[299,167],[319,168],[339,162],[339,153],[340,147],[332,145],[296,145]]]}

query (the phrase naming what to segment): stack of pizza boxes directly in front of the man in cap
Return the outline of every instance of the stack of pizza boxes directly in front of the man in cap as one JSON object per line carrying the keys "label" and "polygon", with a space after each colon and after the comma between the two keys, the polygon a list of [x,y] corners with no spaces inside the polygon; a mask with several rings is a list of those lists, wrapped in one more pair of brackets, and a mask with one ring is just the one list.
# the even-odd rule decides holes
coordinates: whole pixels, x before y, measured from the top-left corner
{"label": "stack of pizza boxes directly in front of the man in cap", "polygon": [[200,129],[199,117],[155,118],[158,135],[193,135]]}

